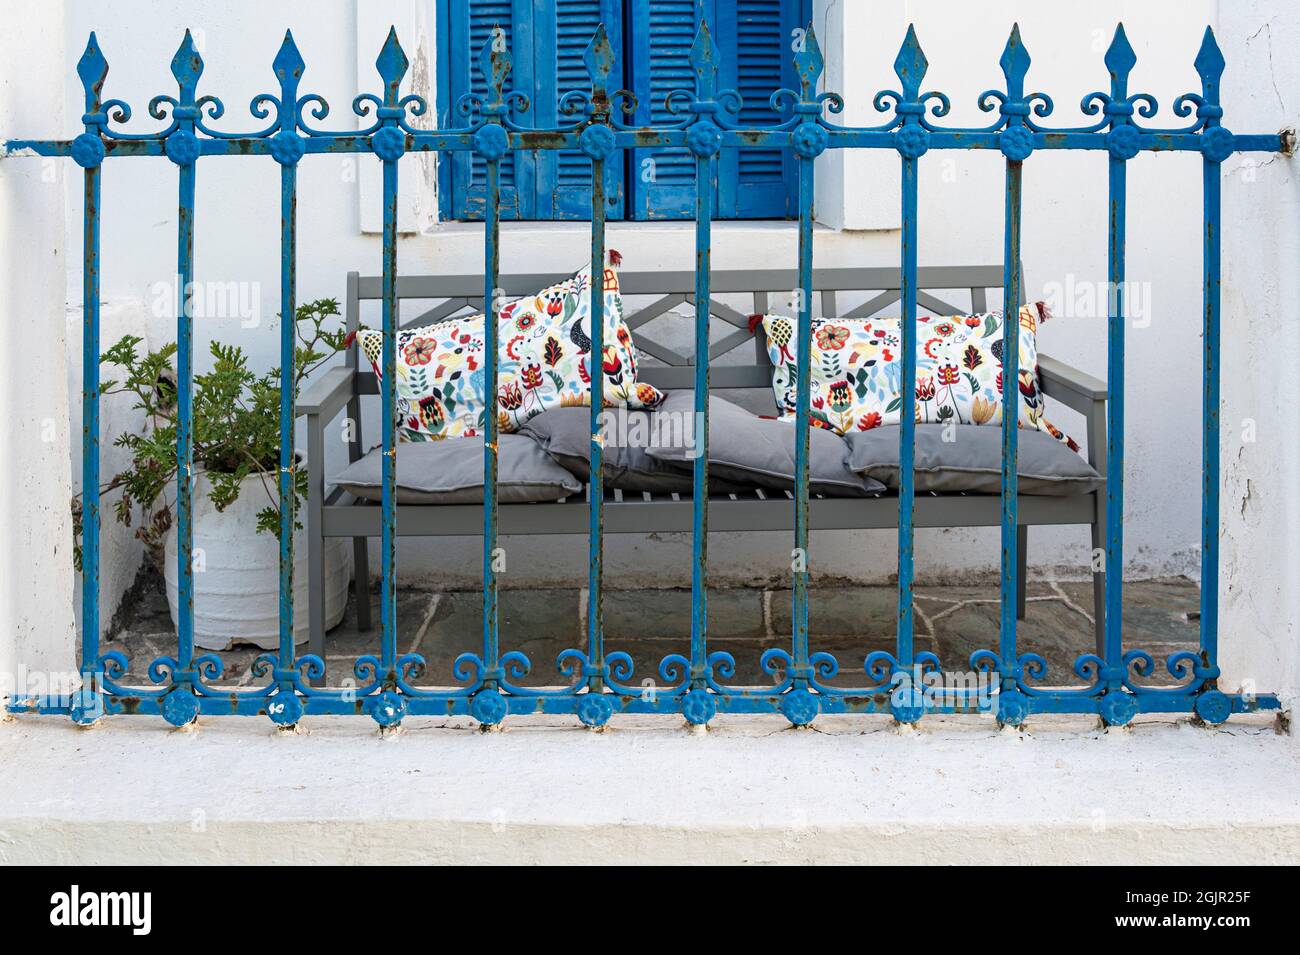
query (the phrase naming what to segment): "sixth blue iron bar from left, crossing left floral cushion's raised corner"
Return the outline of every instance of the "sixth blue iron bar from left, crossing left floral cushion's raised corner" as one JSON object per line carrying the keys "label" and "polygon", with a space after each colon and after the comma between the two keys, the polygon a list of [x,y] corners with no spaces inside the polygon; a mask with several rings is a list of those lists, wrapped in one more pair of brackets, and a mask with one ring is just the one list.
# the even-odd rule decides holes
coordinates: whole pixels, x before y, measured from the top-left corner
{"label": "sixth blue iron bar from left, crossing left floral cushion's raised corner", "polygon": [[592,160],[592,461],[588,528],[586,650],[592,693],[604,689],[604,161]]}

